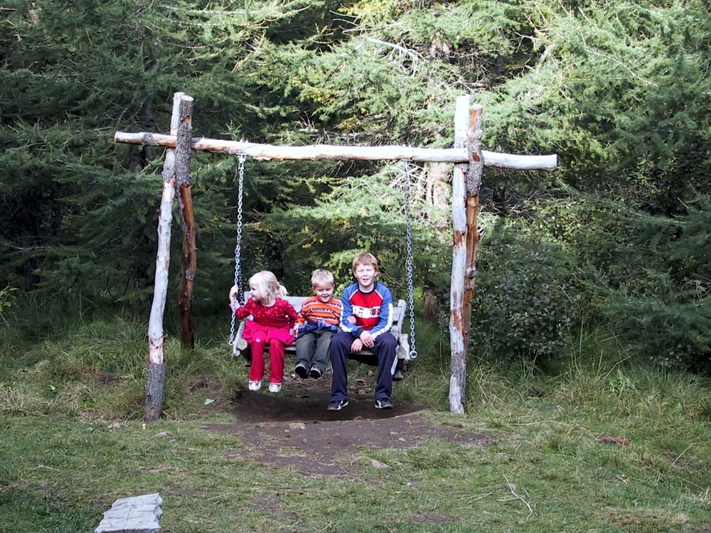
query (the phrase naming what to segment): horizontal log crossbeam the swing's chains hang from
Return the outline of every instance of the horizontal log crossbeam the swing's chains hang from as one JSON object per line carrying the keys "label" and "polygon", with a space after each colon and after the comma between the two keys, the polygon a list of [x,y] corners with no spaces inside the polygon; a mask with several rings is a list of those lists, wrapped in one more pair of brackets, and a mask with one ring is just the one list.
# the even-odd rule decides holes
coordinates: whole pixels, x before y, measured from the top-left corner
{"label": "horizontal log crossbeam the swing's chains hang from", "polygon": [[[173,135],[151,133],[126,133],[117,131],[114,141],[125,144],[143,144],[147,146],[165,146],[174,148],[176,137]],[[193,150],[209,151],[216,154],[235,154],[250,156],[255,159],[284,161],[318,159],[357,159],[377,161],[381,159],[410,161],[433,161],[435,163],[468,163],[466,147],[454,148],[413,148],[412,146],[336,146],[331,144],[313,144],[310,146],[275,146],[242,141],[225,141],[194,137]],[[557,167],[557,155],[519,156],[482,150],[484,166],[515,168],[517,170],[553,171]]]}

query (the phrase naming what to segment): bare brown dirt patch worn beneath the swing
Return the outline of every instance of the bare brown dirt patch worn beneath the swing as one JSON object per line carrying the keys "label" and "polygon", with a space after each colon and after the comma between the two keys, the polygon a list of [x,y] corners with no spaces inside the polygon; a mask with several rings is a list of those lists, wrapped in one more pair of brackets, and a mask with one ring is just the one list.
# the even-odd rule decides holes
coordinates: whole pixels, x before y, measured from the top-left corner
{"label": "bare brown dirt patch worn beneath the swing", "polygon": [[[411,448],[439,438],[486,446],[490,436],[460,432],[431,421],[422,412],[427,406],[397,401],[393,409],[375,409],[375,377],[353,379],[349,384],[349,404],[341,411],[327,411],[331,379],[284,377],[284,388],[272,394],[240,389],[228,406],[234,424],[205,424],[210,431],[239,436],[245,448],[235,458],[250,458],[274,468],[291,468],[304,475],[349,475],[361,461],[385,468],[377,461],[358,457],[363,446],[370,448]],[[397,387],[407,387],[400,382]],[[224,406],[223,406],[224,407]]]}

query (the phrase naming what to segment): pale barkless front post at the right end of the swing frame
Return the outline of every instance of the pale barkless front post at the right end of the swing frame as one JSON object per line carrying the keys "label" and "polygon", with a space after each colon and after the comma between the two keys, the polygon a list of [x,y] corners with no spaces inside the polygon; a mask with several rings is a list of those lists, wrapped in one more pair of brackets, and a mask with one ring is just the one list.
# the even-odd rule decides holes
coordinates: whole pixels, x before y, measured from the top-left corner
{"label": "pale barkless front post at the right end of the swing frame", "polygon": [[[454,111],[454,148],[466,145],[469,129],[469,96],[456,99]],[[467,165],[454,165],[452,174],[451,220],[454,242],[451,260],[451,289],[449,291],[449,342],[451,346],[451,374],[449,377],[449,410],[466,411],[466,343],[464,337],[464,279],[466,277],[466,183]]]}

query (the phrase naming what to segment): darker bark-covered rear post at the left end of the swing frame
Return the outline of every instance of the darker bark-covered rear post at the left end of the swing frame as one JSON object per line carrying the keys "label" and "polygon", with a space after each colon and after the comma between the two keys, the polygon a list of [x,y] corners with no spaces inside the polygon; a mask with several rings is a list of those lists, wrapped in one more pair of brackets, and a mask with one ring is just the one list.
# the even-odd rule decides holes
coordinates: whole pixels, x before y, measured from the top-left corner
{"label": "darker bark-covered rear post at the left end of the swing frame", "polygon": [[193,316],[193,282],[197,268],[195,217],[193,216],[193,181],[190,173],[191,142],[193,140],[193,99],[183,97],[183,105],[176,135],[176,181],[180,194],[181,228],[183,230],[183,273],[178,285],[178,309],[181,317],[181,341],[185,348],[195,346],[195,318]]}

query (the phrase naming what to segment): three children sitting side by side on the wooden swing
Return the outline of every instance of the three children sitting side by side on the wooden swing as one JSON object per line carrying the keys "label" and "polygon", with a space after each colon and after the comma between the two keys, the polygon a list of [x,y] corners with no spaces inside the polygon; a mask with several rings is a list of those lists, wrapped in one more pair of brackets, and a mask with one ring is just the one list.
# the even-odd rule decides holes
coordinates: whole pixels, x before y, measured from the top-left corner
{"label": "three children sitting side by side on the wooden swing", "polygon": [[397,367],[397,340],[392,328],[392,294],[376,281],[378,259],[363,252],[353,259],[355,283],[346,287],[339,302],[333,298],[333,274],[317,269],[311,275],[314,296],[306,298],[297,313],[283,298],[287,294],[276,276],[257,272],[249,279],[250,298],[244,306],[235,300],[239,289],[230,289],[230,306],[237,318],[252,315],[245,323],[242,338],[252,349],[249,389],[256,391],[264,376],[264,346],[269,344],[269,392],[282,389],[284,348],[296,338],[296,366],[299,377],[319,378],[331,358],[333,379],[328,411],[348,405],[348,357],[358,357],[364,349],[378,360],[375,408],[391,409],[392,375]]}

